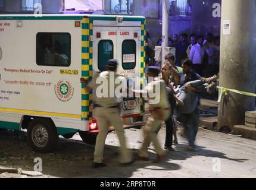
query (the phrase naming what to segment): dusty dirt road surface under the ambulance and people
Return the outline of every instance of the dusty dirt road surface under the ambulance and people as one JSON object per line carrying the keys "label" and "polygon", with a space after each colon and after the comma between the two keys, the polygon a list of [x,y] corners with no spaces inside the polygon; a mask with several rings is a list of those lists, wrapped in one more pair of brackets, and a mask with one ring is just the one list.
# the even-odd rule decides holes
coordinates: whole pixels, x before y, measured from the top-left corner
{"label": "dusty dirt road surface under the ambulance and people", "polygon": [[[165,129],[158,138],[164,144]],[[108,134],[104,162],[107,167],[91,166],[94,147],[82,142],[78,134],[70,140],[60,138],[54,153],[34,153],[26,143],[26,132],[0,131],[0,169],[11,167],[33,171],[34,159],[42,159],[42,176],[37,178],[256,178],[256,141],[218,132],[199,130],[196,150],[188,147],[179,129],[176,151],[168,151],[163,163],[135,162],[118,164],[118,140]],[[134,153],[141,146],[142,131],[126,129],[129,148]],[[149,147],[151,160],[154,148]],[[0,178],[35,178],[14,173],[0,173]]]}

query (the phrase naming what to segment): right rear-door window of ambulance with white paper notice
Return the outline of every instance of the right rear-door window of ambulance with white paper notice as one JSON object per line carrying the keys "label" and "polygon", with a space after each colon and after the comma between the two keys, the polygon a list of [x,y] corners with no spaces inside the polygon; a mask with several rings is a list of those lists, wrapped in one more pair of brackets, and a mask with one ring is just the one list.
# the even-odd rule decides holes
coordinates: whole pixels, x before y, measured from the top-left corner
{"label": "right rear-door window of ambulance with white paper notice", "polygon": [[134,69],[136,66],[136,42],[135,40],[124,40],[122,44],[122,66],[123,69]]}

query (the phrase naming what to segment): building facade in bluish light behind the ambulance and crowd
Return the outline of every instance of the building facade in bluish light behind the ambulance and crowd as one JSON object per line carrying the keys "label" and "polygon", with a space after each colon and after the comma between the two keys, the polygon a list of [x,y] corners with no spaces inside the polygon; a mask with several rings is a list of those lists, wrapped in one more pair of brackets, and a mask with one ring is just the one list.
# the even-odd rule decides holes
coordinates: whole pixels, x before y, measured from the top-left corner
{"label": "building facade in bluish light behind the ambulance and crowd", "polygon": [[[33,14],[35,4],[42,5],[42,14],[88,13],[83,10],[66,10],[67,1],[71,4],[76,0],[0,0],[0,14]],[[86,5],[96,2],[83,1]],[[92,11],[90,14],[143,15],[152,42],[156,43],[162,35],[162,1],[102,0],[103,11]],[[182,33],[205,35],[208,32],[220,35],[220,5],[221,0],[168,0],[169,36]]]}

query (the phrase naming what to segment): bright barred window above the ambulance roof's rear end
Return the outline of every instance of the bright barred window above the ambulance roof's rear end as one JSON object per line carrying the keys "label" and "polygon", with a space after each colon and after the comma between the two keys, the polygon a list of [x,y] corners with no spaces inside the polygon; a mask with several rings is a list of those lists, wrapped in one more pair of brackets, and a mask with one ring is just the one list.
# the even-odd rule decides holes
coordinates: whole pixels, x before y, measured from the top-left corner
{"label": "bright barred window above the ambulance roof's rear end", "polygon": [[132,14],[133,0],[110,0],[109,14]]}

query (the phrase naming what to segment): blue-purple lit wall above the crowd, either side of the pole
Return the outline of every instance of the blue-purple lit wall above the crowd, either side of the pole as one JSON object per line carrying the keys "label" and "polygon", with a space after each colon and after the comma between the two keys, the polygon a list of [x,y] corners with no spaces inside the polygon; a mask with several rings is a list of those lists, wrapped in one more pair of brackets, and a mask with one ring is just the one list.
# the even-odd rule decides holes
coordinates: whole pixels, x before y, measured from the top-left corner
{"label": "blue-purple lit wall above the crowd, either side of the pole", "polygon": [[[191,16],[170,16],[169,17],[169,36],[172,34],[197,33],[205,35],[208,32],[220,36],[220,17],[213,17],[213,4],[220,4],[221,0],[191,0]],[[158,1],[159,18],[147,19],[147,29],[151,34],[152,41],[155,43],[161,37],[162,26],[162,0]],[[214,15],[216,12],[214,12]]]}

